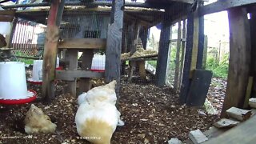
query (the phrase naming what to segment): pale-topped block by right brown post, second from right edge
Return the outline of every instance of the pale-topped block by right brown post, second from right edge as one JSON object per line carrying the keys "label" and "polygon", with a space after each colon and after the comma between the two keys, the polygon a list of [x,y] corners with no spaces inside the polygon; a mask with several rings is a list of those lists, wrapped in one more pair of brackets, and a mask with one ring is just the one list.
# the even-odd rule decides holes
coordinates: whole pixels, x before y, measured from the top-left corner
{"label": "pale-topped block by right brown post, second from right edge", "polygon": [[226,110],[226,114],[230,118],[235,118],[238,121],[245,121],[246,119],[250,118],[251,110],[242,110],[236,107],[231,107],[229,110]]}

